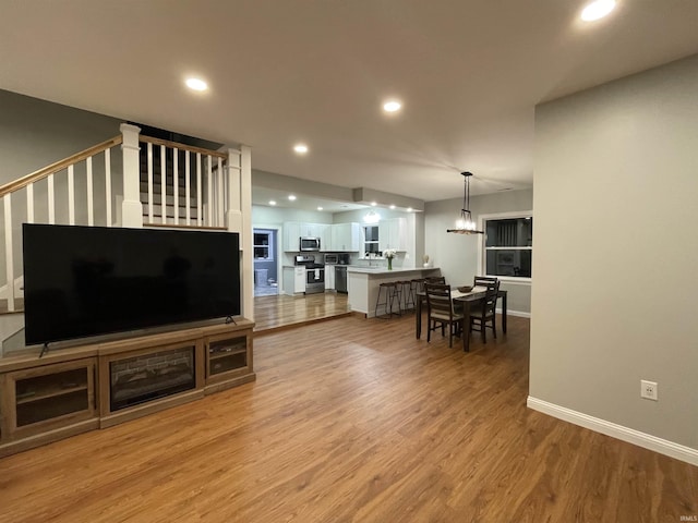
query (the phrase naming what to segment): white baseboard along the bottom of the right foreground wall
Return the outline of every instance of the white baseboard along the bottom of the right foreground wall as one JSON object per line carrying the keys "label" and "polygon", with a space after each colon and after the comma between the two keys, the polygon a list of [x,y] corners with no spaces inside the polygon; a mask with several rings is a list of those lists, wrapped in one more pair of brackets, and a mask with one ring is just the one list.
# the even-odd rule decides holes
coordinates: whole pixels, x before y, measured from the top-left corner
{"label": "white baseboard along the bottom of the right foreground wall", "polygon": [[615,423],[606,422],[598,417],[582,414],[581,412],[573,411],[564,406],[549,403],[547,401],[539,400],[537,398],[528,397],[526,405],[534,411],[542,412],[558,419],[574,423],[580,427],[589,428],[597,433],[605,434],[612,438],[627,441],[628,443],[637,445],[645,449],[659,452],[660,454],[675,458],[691,465],[698,466],[698,449],[691,449],[683,445],[674,443],[666,439],[658,438],[649,434],[640,433],[633,428],[624,427]]}

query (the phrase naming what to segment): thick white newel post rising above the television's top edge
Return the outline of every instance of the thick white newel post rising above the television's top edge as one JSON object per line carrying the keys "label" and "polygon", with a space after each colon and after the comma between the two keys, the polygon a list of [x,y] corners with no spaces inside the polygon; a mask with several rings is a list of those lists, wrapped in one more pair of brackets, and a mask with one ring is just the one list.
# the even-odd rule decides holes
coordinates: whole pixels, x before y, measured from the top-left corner
{"label": "thick white newel post rising above the television's top edge", "polygon": [[123,135],[123,202],[121,203],[121,226],[143,227],[143,205],[141,204],[141,159],[139,134],[141,129],[122,123],[119,127]]}

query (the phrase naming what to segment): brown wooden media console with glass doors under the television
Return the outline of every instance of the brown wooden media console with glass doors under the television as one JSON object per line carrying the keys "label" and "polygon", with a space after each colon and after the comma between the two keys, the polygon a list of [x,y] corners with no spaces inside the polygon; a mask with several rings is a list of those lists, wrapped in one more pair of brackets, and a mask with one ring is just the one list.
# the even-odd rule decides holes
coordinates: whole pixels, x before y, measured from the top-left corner
{"label": "brown wooden media console with glass doors under the television", "polygon": [[0,458],[255,379],[254,323],[0,358]]}

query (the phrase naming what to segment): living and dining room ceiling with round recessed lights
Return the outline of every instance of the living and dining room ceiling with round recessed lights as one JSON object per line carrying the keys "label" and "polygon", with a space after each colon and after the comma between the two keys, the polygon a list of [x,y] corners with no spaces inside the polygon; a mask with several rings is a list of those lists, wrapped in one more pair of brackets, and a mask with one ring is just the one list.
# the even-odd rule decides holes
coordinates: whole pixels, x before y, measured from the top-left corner
{"label": "living and dining room ceiling with round recessed lights", "polygon": [[696,0],[595,23],[583,1],[0,0],[0,88],[342,187],[454,198],[464,170],[473,195],[528,187],[537,104],[698,52]]}

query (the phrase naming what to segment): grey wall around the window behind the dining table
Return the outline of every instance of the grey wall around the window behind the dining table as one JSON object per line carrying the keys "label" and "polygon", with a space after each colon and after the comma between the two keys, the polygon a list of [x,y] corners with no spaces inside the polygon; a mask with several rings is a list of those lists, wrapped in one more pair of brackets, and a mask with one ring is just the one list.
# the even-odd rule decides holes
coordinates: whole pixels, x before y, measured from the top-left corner
{"label": "grey wall around the window behind the dining table", "polygon": [[[460,218],[462,195],[454,199],[426,203],[424,207],[424,252],[441,267],[446,281],[453,284],[469,284],[481,268],[482,241],[480,234],[454,234],[446,232]],[[506,191],[470,197],[473,219],[496,212],[530,211],[533,208],[533,191]],[[533,244],[533,259],[535,259]],[[533,275],[533,280],[535,275]],[[531,283],[502,281],[508,293],[507,307],[513,314],[528,315],[531,311]]]}

